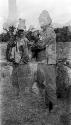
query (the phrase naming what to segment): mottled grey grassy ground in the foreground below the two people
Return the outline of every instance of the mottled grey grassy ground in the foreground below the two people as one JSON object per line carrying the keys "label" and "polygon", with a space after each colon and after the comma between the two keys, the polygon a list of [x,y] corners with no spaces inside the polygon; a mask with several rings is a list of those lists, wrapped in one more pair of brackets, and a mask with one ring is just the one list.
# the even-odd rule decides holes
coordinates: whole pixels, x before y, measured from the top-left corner
{"label": "mottled grey grassy ground in the foreground below the two people", "polygon": [[2,68],[0,79],[1,121],[2,125],[63,125],[60,116],[65,111],[64,101],[58,100],[58,105],[51,113],[45,109],[43,99],[35,94],[16,96],[16,90],[10,81],[8,67]]}

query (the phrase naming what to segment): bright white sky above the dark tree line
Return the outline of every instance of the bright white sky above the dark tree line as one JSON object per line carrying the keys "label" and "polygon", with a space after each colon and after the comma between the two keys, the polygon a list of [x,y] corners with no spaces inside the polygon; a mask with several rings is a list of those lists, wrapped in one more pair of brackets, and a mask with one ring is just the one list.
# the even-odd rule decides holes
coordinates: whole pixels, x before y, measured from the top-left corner
{"label": "bright white sky above the dark tree line", "polygon": [[[16,0],[18,18],[25,18],[26,25],[38,27],[38,17],[47,10],[53,23],[71,23],[71,0]],[[0,30],[8,17],[8,0],[0,0]]]}

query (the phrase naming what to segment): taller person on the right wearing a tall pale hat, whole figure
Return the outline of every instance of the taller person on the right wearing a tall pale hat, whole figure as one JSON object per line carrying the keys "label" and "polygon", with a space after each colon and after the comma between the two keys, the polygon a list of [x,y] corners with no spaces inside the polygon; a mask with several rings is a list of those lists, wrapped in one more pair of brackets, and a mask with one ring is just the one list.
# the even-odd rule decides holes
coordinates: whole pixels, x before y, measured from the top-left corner
{"label": "taller person on the right wearing a tall pale hat, whole figure", "polygon": [[[53,65],[56,64],[56,35],[51,27],[51,22],[52,20],[48,12],[44,10],[39,17],[39,23],[42,30],[40,31],[39,40],[37,42],[38,65],[36,82],[41,95],[44,95],[45,104],[46,107],[49,107],[49,111],[57,104],[56,72],[55,65]],[[52,65],[47,65],[47,58],[48,64]]]}

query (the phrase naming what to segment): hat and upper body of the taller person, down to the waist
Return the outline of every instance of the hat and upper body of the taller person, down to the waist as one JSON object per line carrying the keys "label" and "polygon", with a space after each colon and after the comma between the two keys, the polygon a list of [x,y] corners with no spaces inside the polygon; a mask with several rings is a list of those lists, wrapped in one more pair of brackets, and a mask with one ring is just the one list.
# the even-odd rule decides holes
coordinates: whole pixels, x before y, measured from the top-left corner
{"label": "hat and upper body of the taller person, down to the waist", "polygon": [[52,19],[48,11],[43,10],[39,16],[39,24],[41,27],[40,44],[46,46],[48,64],[56,64],[56,34],[51,26],[51,23]]}

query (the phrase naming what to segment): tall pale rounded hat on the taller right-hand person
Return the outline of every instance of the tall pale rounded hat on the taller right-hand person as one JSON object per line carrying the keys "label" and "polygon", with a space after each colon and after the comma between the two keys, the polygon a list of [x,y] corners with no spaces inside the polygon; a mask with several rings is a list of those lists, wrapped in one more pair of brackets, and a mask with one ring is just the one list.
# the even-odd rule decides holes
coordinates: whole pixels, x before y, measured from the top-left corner
{"label": "tall pale rounded hat on the taller right-hand person", "polygon": [[42,13],[39,16],[39,23],[40,23],[40,26],[44,26],[44,25],[48,26],[52,23],[52,19],[50,18],[48,11],[46,10],[42,11]]}

